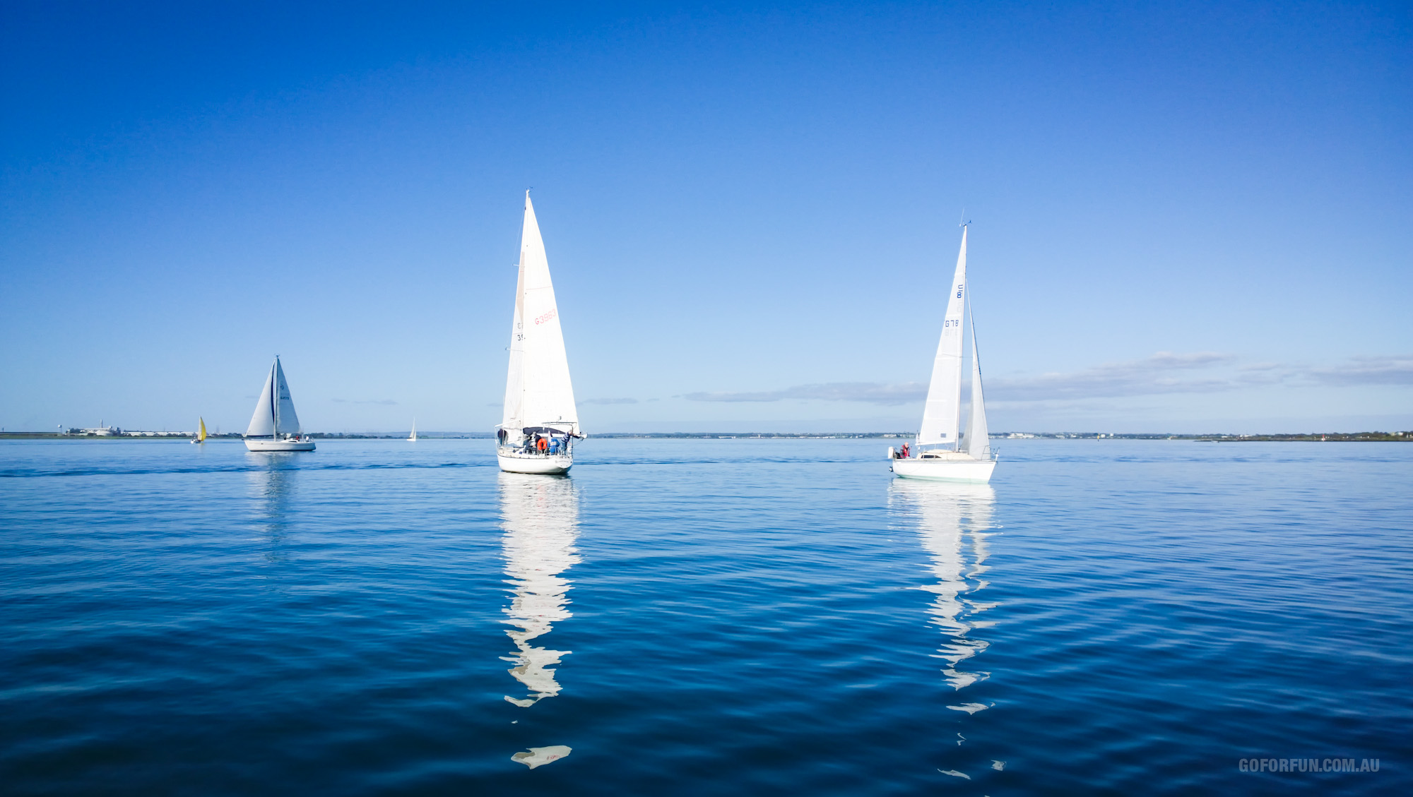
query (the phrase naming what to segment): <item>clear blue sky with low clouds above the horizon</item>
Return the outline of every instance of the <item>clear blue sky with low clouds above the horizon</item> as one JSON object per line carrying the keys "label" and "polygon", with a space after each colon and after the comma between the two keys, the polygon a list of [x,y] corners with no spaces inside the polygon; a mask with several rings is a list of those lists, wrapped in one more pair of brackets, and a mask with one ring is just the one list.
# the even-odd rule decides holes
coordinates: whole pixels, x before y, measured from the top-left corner
{"label": "clear blue sky with low clouds above the horizon", "polygon": [[1413,428],[1406,3],[0,7],[0,425]]}

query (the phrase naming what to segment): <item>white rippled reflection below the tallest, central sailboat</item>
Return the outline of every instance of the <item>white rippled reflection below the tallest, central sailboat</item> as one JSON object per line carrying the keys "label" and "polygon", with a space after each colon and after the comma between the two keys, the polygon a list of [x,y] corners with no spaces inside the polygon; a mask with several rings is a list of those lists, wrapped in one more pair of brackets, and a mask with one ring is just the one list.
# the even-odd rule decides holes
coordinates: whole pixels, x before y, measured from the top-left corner
{"label": "white rippled reflection below the tallest, central sailboat", "polygon": [[571,582],[561,574],[581,561],[574,547],[579,536],[579,499],[574,482],[560,476],[503,472],[497,489],[504,529],[502,554],[510,577],[506,584],[514,592],[504,609],[509,619],[503,622],[514,626],[506,634],[516,644],[502,659],[516,664],[509,673],[528,691],[524,698],[506,695],[506,699],[528,708],[560,694],[552,666],[571,653],[536,647],[531,640],[572,616],[567,596]]}

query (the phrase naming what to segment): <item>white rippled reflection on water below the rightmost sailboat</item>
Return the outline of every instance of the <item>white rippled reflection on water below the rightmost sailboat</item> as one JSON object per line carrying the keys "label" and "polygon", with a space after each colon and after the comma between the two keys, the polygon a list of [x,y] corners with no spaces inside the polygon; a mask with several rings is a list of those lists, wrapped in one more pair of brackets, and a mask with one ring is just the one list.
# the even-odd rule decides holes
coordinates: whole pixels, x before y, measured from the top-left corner
{"label": "white rippled reflection on water below the rightmost sailboat", "polygon": [[[989,537],[985,530],[992,527],[996,492],[989,485],[893,479],[889,504],[894,514],[917,530],[923,547],[931,554],[930,569],[937,577],[937,584],[923,589],[937,595],[928,613],[945,636],[937,653],[938,659],[947,661],[942,677],[955,690],[985,680],[989,673],[959,667],[989,646],[972,632],[993,625],[978,615],[996,603],[978,602],[976,594],[988,586],[981,577],[991,569],[985,564]],[[986,707],[964,704],[950,708],[975,712]]]}

